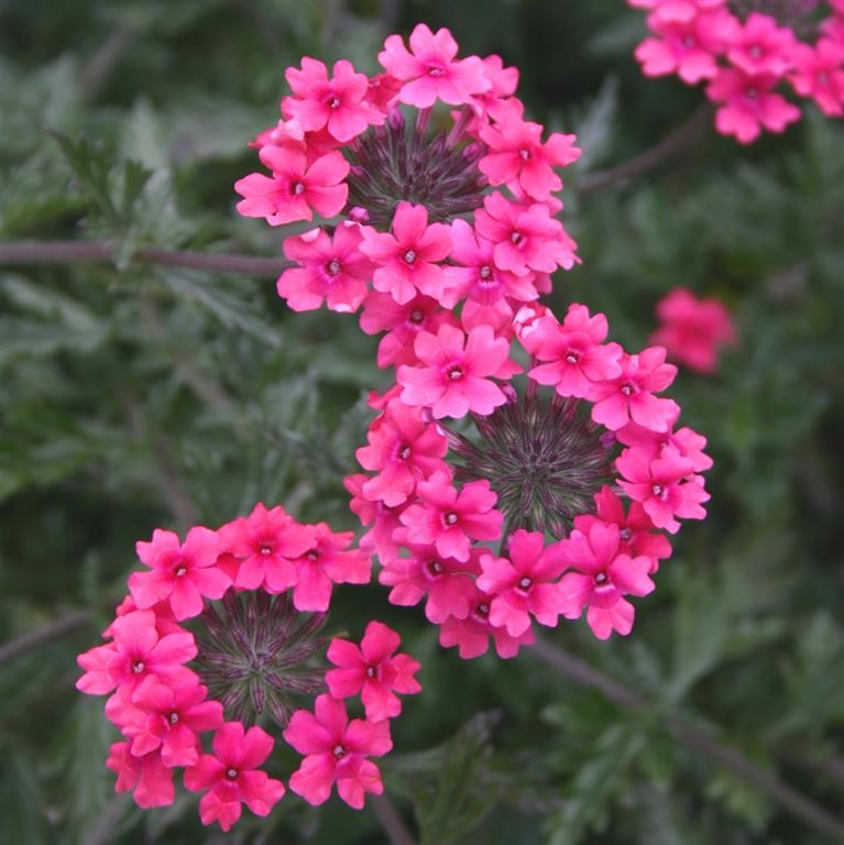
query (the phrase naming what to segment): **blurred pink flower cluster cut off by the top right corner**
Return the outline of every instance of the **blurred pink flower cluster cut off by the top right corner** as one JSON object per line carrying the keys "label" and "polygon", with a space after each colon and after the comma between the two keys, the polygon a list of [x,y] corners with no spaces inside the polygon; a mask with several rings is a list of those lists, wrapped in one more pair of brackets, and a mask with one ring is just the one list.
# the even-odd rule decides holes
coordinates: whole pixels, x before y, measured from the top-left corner
{"label": "blurred pink flower cluster cut off by the top right corner", "polygon": [[706,83],[715,127],[741,143],[782,132],[800,109],[787,83],[826,116],[844,114],[842,0],[627,0],[648,11],[653,35],[635,55],[646,76]]}

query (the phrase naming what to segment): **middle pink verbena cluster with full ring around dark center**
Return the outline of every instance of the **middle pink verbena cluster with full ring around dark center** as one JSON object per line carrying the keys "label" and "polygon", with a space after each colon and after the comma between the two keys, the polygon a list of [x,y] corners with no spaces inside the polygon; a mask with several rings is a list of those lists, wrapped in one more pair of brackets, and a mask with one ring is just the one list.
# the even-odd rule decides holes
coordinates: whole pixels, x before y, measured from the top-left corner
{"label": "middle pink verbena cluster with full ring around dark center", "polygon": [[[705,516],[705,439],[659,395],[677,367],[664,348],[628,354],[607,332],[578,304],[562,322],[539,305],[497,329],[443,322],[372,399],[366,472],[346,482],[369,526],[361,546],[390,601],[425,600],[463,658],[490,638],[513,657],[534,622],[584,610],[599,638],[628,634],[626,596],[649,593],[671,553],[660,531]],[[530,360],[520,391],[512,355]]]}

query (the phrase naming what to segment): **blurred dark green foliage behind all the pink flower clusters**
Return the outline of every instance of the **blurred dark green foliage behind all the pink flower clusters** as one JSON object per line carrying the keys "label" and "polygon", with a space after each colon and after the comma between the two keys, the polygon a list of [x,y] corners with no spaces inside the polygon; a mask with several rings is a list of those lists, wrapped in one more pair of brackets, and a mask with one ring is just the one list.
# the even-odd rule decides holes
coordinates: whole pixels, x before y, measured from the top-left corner
{"label": "blurred dark green foliage behind all the pink flower clusters", "polygon": [[[720,296],[742,342],[719,375],[682,372],[673,388],[716,461],[710,517],[678,536],[629,638],[563,624],[546,638],[562,663],[544,649],[465,663],[376,584],[338,591],[336,626],[383,618],[424,663],[384,760],[388,794],[424,845],[835,841],[841,124],[808,107],[749,149],[706,128],[664,166],[579,196],[590,172],[701,102],[640,76],[643,18],[622,0],[0,0],[2,240],[97,239],[116,255],[0,267],[3,841],[222,841],[194,795],[141,812],[113,793],[116,732],[100,699],[74,691],[74,658],[156,526],[217,526],[261,500],[357,527],[341,480],[363,396],[385,380],[354,319],[293,315],[271,278],[130,257],[279,255],[282,233],[239,218],[232,184],[256,169],[245,144],[275,121],[284,68],[311,55],[373,72],[384,36],[418,21],[449,26],[463,54],[517,65],[529,113],[580,135],[563,196],[583,265],[558,275],[558,307],[604,310],[637,349],[681,284]],[[385,833],[371,810],[288,797],[227,841]]]}

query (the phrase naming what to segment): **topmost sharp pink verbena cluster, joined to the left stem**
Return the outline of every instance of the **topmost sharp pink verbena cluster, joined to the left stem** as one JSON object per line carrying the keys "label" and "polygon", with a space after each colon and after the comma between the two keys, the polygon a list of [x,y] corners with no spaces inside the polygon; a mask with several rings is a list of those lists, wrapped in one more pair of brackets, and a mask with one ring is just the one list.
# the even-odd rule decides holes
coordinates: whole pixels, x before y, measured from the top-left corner
{"label": "topmost sharp pink verbena cluster, joined to the left stem", "polygon": [[416,336],[443,323],[461,337],[507,325],[578,262],[555,217],[574,136],[544,139],[498,56],[457,52],[448,30],[419,24],[409,50],[386,40],[373,77],[304,58],[282,119],[254,141],[272,175],[235,184],[238,210],[271,226],[340,216],[285,239],[296,266],[278,294],[297,311],[362,309],[365,332],[386,332],[382,366],[414,362]]}

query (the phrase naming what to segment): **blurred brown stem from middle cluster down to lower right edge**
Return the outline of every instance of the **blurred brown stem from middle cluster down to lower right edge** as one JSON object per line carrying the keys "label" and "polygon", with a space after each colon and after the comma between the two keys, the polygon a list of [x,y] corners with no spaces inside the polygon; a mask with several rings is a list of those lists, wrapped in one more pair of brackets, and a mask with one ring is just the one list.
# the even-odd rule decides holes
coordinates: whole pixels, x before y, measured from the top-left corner
{"label": "blurred brown stem from middle cluster down to lower right edge", "polygon": [[[647,699],[631,690],[607,674],[593,669],[580,658],[567,654],[546,639],[538,639],[529,654],[536,655],[546,663],[560,669],[584,687],[600,690],[607,699],[624,707],[648,709],[653,706]],[[836,842],[844,841],[844,824],[823,806],[807,798],[793,787],[785,783],[775,775],[760,769],[741,751],[722,745],[717,739],[676,715],[667,715],[665,724],[686,745],[700,751],[704,757],[725,766],[744,778],[761,792],[768,793],[788,812],[822,834]]]}

